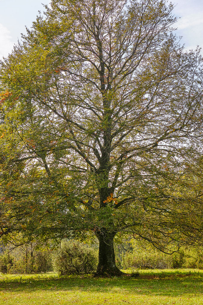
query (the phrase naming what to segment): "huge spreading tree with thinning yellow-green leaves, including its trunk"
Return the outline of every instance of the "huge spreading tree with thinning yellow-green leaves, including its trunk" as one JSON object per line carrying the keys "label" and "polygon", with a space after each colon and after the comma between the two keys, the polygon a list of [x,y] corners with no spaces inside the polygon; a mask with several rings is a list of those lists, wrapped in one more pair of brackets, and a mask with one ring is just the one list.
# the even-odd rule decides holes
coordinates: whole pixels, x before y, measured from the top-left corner
{"label": "huge spreading tree with thinning yellow-green leaves, including its trunk", "polygon": [[52,0],[4,59],[2,235],[92,231],[98,275],[121,274],[122,232],[169,253],[202,243],[202,59],[172,9]]}

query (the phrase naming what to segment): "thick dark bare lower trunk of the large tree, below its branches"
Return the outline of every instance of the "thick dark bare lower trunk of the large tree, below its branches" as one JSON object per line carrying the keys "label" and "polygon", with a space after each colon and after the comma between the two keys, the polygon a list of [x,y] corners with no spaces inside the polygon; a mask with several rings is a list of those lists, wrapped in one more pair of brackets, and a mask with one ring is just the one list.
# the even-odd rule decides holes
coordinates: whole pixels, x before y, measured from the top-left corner
{"label": "thick dark bare lower trunk of the large tree, below its branches", "polygon": [[114,252],[114,235],[106,230],[97,232],[99,239],[99,262],[95,276],[119,276],[122,272],[116,267]]}

